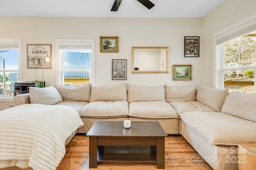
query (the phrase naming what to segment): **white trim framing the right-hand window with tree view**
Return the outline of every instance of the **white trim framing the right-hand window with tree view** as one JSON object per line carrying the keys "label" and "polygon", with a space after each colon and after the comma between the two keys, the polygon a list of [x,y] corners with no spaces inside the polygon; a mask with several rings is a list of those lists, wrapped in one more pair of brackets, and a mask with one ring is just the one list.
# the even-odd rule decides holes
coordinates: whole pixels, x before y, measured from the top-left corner
{"label": "white trim framing the right-hand window with tree view", "polygon": [[[217,33],[214,33],[213,35],[213,49],[215,49],[213,51],[213,64],[214,64],[214,68],[213,68],[213,84],[214,87],[216,88],[223,88],[224,87],[224,81],[222,81],[222,70],[221,68],[223,68],[222,65],[224,62],[223,61],[219,61],[220,59],[222,59],[221,57],[217,57],[218,53],[223,53],[224,52],[224,47],[220,47],[217,43],[218,39],[221,39],[223,37],[226,37],[228,35],[234,34],[242,29],[245,29],[247,27],[250,27],[252,25],[256,24],[256,14],[242,20],[239,21],[233,25],[231,25],[230,27],[227,27],[225,29],[222,29],[221,31],[218,31]],[[235,37],[234,37],[235,38]],[[219,48],[220,47],[220,48]],[[220,50],[220,51],[219,51]],[[223,60],[223,59],[222,59]],[[249,67],[246,67],[246,69],[248,69]],[[255,69],[255,67],[252,67],[252,69]],[[226,69],[225,69],[226,70]],[[232,68],[231,70],[243,70],[242,67],[240,68]],[[254,71],[254,75],[255,75],[255,71]],[[255,76],[254,76],[255,79]],[[255,82],[255,81],[254,81]],[[256,84],[254,84],[254,89],[256,88]]]}

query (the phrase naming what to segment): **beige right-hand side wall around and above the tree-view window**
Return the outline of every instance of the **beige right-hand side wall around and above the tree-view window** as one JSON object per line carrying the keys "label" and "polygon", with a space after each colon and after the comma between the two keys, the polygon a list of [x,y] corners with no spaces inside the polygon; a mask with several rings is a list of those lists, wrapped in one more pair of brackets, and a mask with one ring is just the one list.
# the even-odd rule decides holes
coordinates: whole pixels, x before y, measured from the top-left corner
{"label": "beige right-hand side wall around and above the tree-view window", "polygon": [[[203,83],[214,86],[213,35],[237,22],[256,14],[256,0],[225,0],[203,18],[204,59]],[[254,15],[255,16],[255,15]]]}

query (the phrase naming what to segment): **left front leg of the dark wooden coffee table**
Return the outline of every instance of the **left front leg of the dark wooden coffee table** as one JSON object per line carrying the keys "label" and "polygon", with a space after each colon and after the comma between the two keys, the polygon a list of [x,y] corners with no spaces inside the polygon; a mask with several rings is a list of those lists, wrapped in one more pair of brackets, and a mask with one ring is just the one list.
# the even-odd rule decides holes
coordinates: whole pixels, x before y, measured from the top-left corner
{"label": "left front leg of the dark wooden coffee table", "polygon": [[97,168],[97,137],[89,137],[89,168]]}

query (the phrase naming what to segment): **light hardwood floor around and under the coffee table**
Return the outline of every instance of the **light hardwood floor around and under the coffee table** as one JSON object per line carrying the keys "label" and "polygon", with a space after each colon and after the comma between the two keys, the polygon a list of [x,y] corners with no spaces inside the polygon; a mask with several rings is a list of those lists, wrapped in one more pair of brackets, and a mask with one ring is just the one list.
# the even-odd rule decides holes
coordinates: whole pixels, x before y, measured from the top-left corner
{"label": "light hardwood floor around and under the coffee table", "polygon": [[[89,170],[89,137],[75,135],[57,170]],[[92,170],[92,168],[90,168]],[[156,164],[99,163],[99,170],[156,170]],[[212,170],[182,136],[165,138],[166,170]]]}

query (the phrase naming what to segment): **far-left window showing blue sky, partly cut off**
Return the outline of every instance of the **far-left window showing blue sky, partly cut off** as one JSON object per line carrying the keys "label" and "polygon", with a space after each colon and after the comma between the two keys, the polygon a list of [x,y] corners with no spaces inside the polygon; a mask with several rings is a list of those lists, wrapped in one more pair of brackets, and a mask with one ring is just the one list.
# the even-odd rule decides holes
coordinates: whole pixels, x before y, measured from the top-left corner
{"label": "far-left window showing blue sky, partly cut off", "polygon": [[0,98],[13,98],[12,84],[22,75],[21,54],[21,39],[0,39]]}

